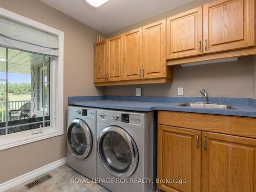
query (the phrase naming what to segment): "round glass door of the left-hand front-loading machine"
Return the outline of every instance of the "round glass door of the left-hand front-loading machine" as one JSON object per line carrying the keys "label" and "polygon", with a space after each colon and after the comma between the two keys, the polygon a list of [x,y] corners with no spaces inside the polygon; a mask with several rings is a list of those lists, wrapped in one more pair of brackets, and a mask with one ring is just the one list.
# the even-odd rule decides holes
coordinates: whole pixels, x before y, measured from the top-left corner
{"label": "round glass door of the left-hand front-loading machine", "polygon": [[67,142],[70,152],[77,159],[85,159],[92,150],[92,133],[89,126],[81,119],[70,122],[67,130]]}

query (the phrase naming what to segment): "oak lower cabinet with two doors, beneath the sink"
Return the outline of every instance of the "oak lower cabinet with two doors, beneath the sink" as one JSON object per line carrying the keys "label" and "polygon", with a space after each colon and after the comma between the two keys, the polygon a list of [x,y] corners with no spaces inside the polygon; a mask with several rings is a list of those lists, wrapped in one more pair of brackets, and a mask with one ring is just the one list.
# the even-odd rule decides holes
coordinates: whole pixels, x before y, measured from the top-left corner
{"label": "oak lower cabinet with two doors, beneath the sink", "polygon": [[[164,113],[166,118],[159,118]],[[203,125],[198,130],[197,127],[185,129],[182,128],[185,123],[182,119],[180,124],[169,120],[170,116],[173,119],[181,117],[178,112],[175,114],[176,116],[174,112],[158,113],[158,188],[169,192],[256,191],[255,138],[212,133],[209,129],[203,131]],[[186,114],[189,116],[189,113]],[[215,119],[212,126],[220,125],[219,116],[207,118]],[[234,123],[241,121],[241,117],[237,118],[227,122],[230,129],[233,129]],[[253,122],[255,118],[245,120]],[[256,129],[256,124],[254,127]],[[169,183],[170,180],[173,183]],[[176,180],[179,182],[175,183]],[[185,182],[180,184],[181,180]]]}

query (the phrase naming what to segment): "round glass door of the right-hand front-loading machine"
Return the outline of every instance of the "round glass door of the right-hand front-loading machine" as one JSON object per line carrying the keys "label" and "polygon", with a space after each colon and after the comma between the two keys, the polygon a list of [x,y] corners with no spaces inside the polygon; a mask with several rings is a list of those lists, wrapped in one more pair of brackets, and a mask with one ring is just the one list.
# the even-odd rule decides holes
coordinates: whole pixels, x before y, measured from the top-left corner
{"label": "round glass door of the right-hand front-loading machine", "polygon": [[129,133],[108,126],[99,135],[98,154],[104,168],[117,178],[130,177],[138,165],[138,149]]}

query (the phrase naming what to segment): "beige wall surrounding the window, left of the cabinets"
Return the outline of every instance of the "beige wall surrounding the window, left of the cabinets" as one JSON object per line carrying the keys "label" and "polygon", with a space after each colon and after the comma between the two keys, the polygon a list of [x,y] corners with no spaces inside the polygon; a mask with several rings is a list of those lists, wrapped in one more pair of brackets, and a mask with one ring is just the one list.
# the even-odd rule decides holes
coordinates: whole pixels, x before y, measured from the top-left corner
{"label": "beige wall surrounding the window, left of the cabinets", "polygon": [[[0,0],[0,7],[65,33],[64,110],[67,97],[101,95],[93,83],[93,45],[99,32],[38,0]],[[0,183],[66,157],[66,135],[0,151]]]}

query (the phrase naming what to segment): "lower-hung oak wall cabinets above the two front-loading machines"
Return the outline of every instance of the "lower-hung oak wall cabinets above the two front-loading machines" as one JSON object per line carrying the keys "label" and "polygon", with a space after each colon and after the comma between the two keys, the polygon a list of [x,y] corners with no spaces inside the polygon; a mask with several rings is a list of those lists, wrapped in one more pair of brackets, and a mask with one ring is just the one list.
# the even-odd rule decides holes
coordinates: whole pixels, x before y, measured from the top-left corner
{"label": "lower-hung oak wall cabinets above the two front-loading machines", "polygon": [[[166,19],[106,39],[105,50],[106,69],[95,86],[172,82],[173,67],[166,66]],[[95,60],[101,60],[95,52]]]}

